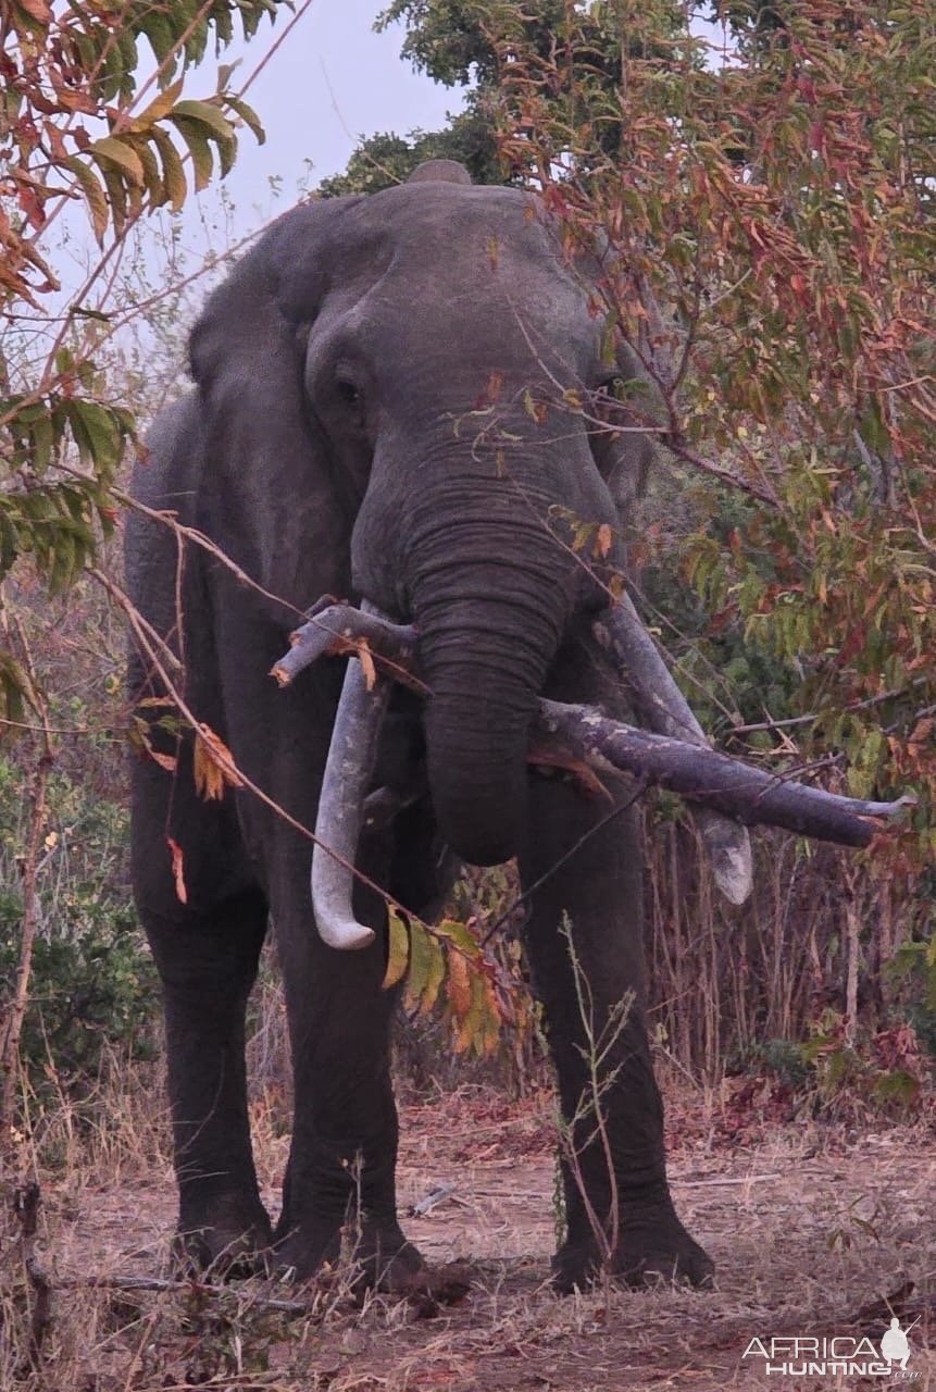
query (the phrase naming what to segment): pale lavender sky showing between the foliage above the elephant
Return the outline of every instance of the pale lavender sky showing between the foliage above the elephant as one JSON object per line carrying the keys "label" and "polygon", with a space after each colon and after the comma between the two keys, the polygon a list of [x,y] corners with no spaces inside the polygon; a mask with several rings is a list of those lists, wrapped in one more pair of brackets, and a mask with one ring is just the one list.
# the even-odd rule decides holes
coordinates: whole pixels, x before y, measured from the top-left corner
{"label": "pale lavender sky showing between the foliage above the elephant", "polygon": [[[291,207],[302,191],[341,173],[362,136],[439,129],[446,113],[460,107],[460,89],[439,86],[401,60],[402,25],[373,32],[381,8],[381,0],[313,0],[246,93],[266,128],[266,143],[259,146],[245,128],[236,163],[221,184],[213,181],[203,193],[192,193],[178,219],[163,213],[140,221],[139,251],[128,251],[121,271],[136,290],[134,299],[177,284],[206,255],[232,249]],[[218,63],[241,58],[231,82],[238,90],[284,35],[289,18],[284,7],[277,24],[264,21],[250,43],[231,45],[217,61],[207,57],[188,75],[185,96],[209,96]],[[694,19],[693,29],[715,45],[722,40],[720,29],[704,21]],[[147,53],[146,45],[142,52]],[[64,283],[61,298],[67,298],[97,259],[85,209],[67,209],[50,242]],[[104,285],[99,280],[95,294]],[[206,288],[207,283],[192,287],[186,317]]]}

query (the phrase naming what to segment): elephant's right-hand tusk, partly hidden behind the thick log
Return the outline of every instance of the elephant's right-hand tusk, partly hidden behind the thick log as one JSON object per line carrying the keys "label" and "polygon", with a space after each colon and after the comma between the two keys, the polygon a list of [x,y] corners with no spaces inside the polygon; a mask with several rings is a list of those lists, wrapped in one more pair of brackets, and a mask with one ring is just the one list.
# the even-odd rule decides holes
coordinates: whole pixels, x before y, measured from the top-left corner
{"label": "elephant's right-hand tusk, partly hidden behind the thick log", "polygon": [[[609,604],[602,611],[592,624],[592,633],[630,685],[652,731],[709,748],[702,727],[641,624],[629,594],[622,594],[616,604]],[[695,806],[693,816],[709,853],[715,883],[730,903],[744,903],[754,884],[751,838],[747,830],[711,807]]]}

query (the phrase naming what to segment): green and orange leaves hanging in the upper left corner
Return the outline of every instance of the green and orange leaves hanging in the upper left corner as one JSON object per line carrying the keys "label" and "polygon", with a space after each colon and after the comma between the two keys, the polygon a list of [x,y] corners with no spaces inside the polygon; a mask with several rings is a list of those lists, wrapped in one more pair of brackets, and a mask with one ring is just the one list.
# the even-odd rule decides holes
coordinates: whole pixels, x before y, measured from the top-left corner
{"label": "green and orange leaves hanging in the upper left corner", "polygon": [[[108,400],[95,355],[111,331],[92,287],[128,228],[224,175],[236,129],[263,139],[256,114],[231,89],[182,96],[186,71],[231,42],[235,19],[256,32],[275,0],[164,0],[160,4],[53,7],[18,0],[0,19],[0,319],[51,337],[47,354],[0,354],[0,580],[31,557],[54,592],[71,585],[114,526],[115,470],[135,440],[132,413]],[[146,45],[156,63],[139,77]],[[83,206],[102,262],[50,330],[42,299],[60,290],[47,260],[57,219]],[[32,317],[31,317],[32,316]],[[0,717],[22,715],[25,688],[4,665]]]}

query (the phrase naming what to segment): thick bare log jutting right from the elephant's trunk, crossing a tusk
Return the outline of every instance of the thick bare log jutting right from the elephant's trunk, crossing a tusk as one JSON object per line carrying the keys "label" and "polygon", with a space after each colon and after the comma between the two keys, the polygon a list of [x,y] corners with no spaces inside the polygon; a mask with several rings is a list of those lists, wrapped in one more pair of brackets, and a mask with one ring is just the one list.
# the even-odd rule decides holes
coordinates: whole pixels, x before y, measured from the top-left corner
{"label": "thick bare log jutting right from the elephant's trunk, crossing a tusk", "polygon": [[713,749],[608,720],[590,706],[541,700],[537,736],[540,749],[552,739],[591,768],[634,774],[748,825],[784,827],[841,846],[866,846],[885,830],[882,820],[912,805],[912,798],[865,802],[807,788]]}

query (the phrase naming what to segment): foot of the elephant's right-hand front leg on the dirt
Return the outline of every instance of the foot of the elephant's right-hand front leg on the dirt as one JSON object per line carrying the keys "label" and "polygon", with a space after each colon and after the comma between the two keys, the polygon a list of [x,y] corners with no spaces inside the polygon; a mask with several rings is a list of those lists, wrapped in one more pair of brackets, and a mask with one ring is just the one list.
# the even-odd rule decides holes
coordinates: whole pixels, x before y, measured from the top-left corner
{"label": "foot of the elephant's right-hand front leg on the dirt", "polygon": [[[591,1235],[566,1242],[552,1260],[552,1283],[560,1295],[586,1290],[601,1276],[601,1254]],[[686,1232],[675,1212],[630,1218],[612,1258],[612,1278],[636,1290],[661,1285],[712,1288],[715,1263]]]}

